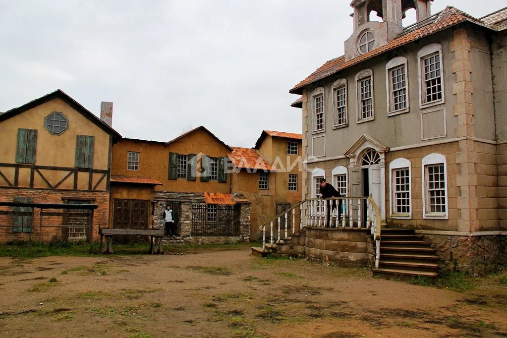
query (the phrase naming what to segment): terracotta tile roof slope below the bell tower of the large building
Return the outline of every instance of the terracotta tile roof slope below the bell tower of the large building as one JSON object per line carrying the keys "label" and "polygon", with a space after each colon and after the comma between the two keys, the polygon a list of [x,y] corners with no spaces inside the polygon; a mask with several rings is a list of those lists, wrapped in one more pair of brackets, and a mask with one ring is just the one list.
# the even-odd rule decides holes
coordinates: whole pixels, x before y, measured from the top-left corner
{"label": "terracotta tile roof slope below the bell tower of the large building", "polygon": [[331,74],[339,72],[347,67],[371,59],[389,50],[409,44],[421,39],[422,37],[434,34],[438,31],[457,25],[464,21],[472,21],[477,24],[482,24],[482,22],[478,19],[475,19],[472,16],[469,16],[468,14],[454,7],[448,6],[442,12],[437,13],[424,21],[407,27],[398,37],[396,37],[396,39],[392,40],[384,46],[374,49],[371,52],[360,55],[348,61],[345,61],[345,56],[340,56],[324,63],[320,68],[311,73],[310,76],[308,76],[305,80],[301,81],[299,84],[294,86],[293,89],[289,90],[289,93],[301,95],[303,94],[303,87],[311,83],[327,78]]}

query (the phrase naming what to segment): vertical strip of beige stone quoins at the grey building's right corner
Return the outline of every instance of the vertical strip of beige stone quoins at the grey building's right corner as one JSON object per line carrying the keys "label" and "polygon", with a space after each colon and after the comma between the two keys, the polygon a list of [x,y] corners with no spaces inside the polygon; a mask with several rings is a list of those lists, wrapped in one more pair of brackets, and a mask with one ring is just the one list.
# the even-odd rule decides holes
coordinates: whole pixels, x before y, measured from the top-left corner
{"label": "vertical strip of beige stone quoins at the grey building's right corner", "polygon": [[[452,72],[456,76],[456,81],[452,85],[453,94],[456,95],[456,104],[454,104],[453,111],[454,116],[458,118],[458,125],[454,128],[454,137],[475,137],[474,85],[471,81],[470,41],[465,29],[454,30],[451,52],[454,53]],[[456,154],[456,164],[459,165],[459,173],[456,175],[456,185],[459,188],[457,201],[458,231],[479,230],[476,157],[473,140],[459,141],[459,152]]]}

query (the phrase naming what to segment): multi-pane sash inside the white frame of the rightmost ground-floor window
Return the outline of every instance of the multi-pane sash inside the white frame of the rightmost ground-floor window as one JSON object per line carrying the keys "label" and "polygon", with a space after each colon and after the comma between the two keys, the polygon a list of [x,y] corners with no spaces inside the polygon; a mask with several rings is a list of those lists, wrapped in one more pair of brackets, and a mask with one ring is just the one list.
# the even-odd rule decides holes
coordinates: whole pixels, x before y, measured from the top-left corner
{"label": "multi-pane sash inside the white frame of the rightmost ground-floor window", "polygon": [[427,212],[445,213],[447,209],[444,164],[425,167],[427,182]]}

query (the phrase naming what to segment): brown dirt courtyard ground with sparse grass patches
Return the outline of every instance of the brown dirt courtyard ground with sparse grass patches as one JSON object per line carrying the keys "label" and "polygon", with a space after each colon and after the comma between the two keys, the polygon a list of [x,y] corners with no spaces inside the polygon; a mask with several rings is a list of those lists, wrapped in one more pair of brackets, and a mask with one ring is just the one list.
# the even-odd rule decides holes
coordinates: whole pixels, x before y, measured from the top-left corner
{"label": "brown dirt courtyard ground with sparse grass patches", "polygon": [[505,286],[455,292],[248,248],[0,257],[1,337],[494,337],[506,309]]}

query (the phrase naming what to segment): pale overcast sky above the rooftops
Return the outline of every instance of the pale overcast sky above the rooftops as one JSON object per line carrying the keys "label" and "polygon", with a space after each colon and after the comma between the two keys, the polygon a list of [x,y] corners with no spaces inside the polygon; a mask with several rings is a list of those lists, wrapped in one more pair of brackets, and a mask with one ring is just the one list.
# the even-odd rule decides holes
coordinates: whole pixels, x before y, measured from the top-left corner
{"label": "pale overcast sky above the rooftops", "polygon": [[[350,0],[0,0],[0,111],[61,89],[122,136],[301,133],[288,90],[343,54]],[[481,17],[505,0],[435,0]]]}

